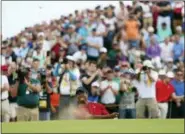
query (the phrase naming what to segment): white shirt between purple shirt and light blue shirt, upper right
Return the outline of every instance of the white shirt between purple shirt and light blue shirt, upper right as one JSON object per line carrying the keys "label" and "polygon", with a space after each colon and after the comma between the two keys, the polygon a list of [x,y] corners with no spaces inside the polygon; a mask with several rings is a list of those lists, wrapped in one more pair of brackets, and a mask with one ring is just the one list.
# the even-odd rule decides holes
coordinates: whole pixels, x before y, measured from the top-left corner
{"label": "white shirt between purple shirt and light blue shirt, upper right", "polygon": [[168,58],[172,57],[172,50],[173,50],[173,43],[169,42],[168,45],[166,45],[164,42],[160,43],[159,46],[161,48],[161,59],[164,61],[167,61]]}

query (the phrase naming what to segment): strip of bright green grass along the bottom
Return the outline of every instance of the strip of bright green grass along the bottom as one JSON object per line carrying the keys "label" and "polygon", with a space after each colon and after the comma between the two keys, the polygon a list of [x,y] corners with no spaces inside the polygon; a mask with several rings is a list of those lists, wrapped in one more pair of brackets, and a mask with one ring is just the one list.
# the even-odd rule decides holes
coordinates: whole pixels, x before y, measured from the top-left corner
{"label": "strip of bright green grass along the bottom", "polygon": [[184,133],[184,120],[61,120],[3,123],[2,133]]}

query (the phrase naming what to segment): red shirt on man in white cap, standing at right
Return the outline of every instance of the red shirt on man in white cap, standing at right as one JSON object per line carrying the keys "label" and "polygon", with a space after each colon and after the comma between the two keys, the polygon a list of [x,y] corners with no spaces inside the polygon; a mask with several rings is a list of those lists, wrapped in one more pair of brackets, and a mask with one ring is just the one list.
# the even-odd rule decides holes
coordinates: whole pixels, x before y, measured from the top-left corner
{"label": "red shirt on man in white cap, standing at right", "polygon": [[169,83],[166,84],[162,80],[156,83],[156,99],[157,102],[168,102],[171,94],[174,92],[174,87]]}

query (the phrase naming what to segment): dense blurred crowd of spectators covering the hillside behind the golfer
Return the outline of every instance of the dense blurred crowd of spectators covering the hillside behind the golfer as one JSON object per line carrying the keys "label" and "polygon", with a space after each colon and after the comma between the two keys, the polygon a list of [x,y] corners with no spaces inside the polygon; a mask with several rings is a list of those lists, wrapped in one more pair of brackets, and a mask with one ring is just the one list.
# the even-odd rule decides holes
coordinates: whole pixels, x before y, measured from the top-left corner
{"label": "dense blurred crowd of spectators covering the hillside behind the golfer", "polygon": [[184,118],[184,31],[183,1],[120,1],[26,27],[2,41],[1,121],[66,119],[79,87],[120,119]]}

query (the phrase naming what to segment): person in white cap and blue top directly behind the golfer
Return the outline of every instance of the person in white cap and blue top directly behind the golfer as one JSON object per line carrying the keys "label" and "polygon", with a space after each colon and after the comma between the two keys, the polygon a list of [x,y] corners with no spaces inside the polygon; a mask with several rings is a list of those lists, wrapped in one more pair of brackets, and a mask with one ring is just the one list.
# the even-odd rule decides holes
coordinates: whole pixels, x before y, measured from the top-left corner
{"label": "person in white cap and blue top directly behind the golfer", "polygon": [[99,102],[100,92],[99,92],[100,85],[97,81],[93,82],[91,85],[91,95],[88,96],[88,102]]}

